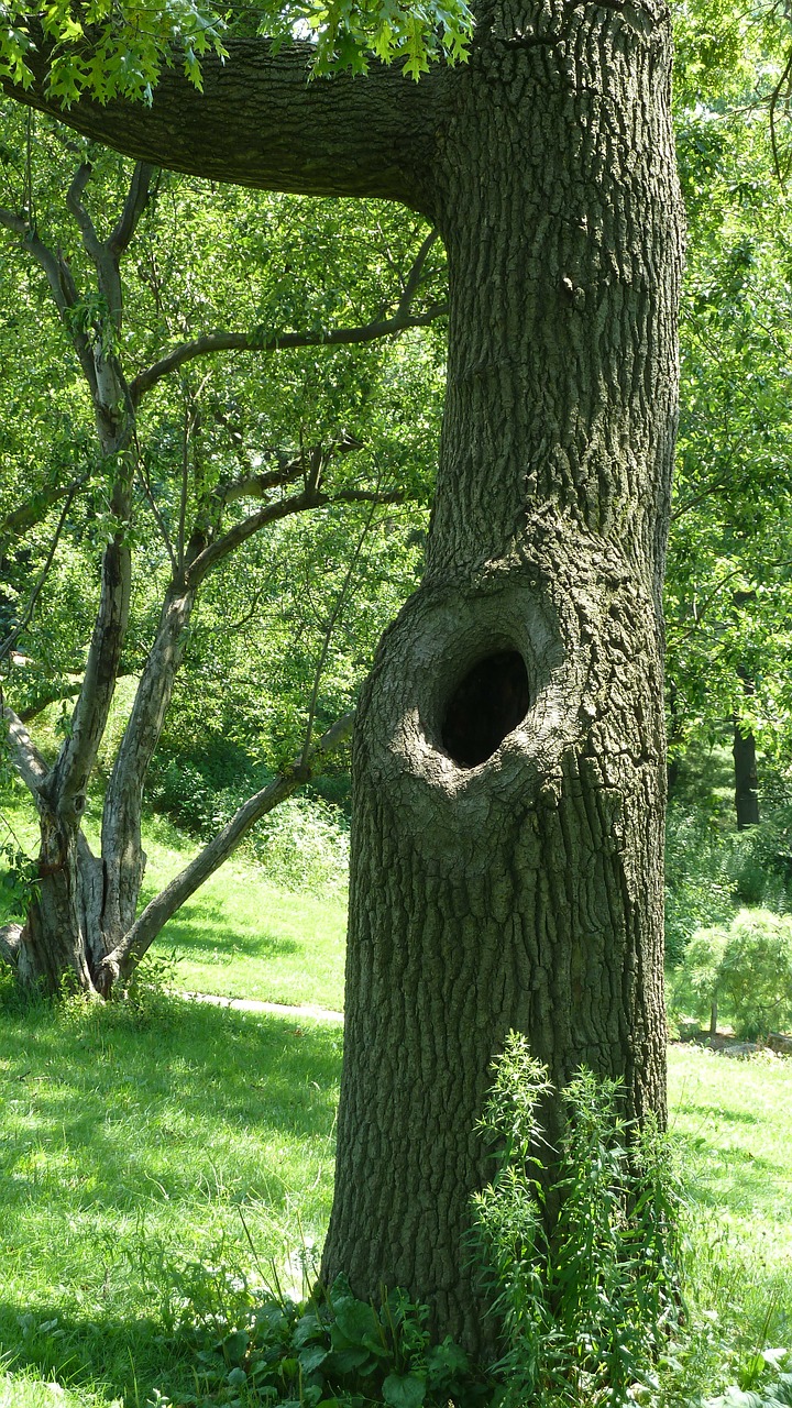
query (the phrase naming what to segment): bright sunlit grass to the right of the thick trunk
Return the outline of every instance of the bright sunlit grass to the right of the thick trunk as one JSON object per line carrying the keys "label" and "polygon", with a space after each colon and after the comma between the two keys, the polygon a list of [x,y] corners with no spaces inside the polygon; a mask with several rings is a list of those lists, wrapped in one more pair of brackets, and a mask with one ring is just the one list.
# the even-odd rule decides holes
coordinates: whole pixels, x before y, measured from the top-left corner
{"label": "bright sunlit grass to the right of the thick trunk", "polygon": [[792,1352],[792,1060],[672,1046],[669,1125],[691,1202],[692,1309],[671,1402],[688,1408],[762,1349]]}

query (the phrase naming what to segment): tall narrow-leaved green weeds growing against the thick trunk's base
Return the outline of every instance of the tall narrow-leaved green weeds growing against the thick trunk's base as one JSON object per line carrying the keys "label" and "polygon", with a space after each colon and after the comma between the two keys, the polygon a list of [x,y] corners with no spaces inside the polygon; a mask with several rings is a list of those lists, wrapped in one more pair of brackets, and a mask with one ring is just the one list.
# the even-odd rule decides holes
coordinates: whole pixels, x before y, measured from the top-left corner
{"label": "tall narrow-leaved green weeds growing against the thick trunk's base", "polygon": [[637,1385],[655,1387],[652,1364],[679,1305],[679,1190],[668,1146],[657,1126],[640,1135],[619,1118],[616,1081],[581,1070],[564,1091],[561,1200],[551,1215],[537,1156],[547,1069],[512,1032],[493,1071],[481,1128],[497,1171],[474,1209],[506,1340],[499,1401],[633,1404]]}

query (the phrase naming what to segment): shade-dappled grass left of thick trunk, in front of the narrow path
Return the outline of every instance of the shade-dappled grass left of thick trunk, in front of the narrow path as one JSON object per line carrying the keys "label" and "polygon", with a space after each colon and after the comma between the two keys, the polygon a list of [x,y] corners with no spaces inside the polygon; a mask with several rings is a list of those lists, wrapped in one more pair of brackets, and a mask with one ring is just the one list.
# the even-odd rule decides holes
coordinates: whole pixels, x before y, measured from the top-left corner
{"label": "shade-dappled grass left of thick trunk, in front of the narrow path", "polygon": [[189,1378],[166,1333],[180,1301],[221,1308],[224,1269],[283,1278],[324,1233],[340,1055],[337,1026],[178,1000],[3,1011],[0,1353],[14,1369],[135,1408],[155,1378]]}

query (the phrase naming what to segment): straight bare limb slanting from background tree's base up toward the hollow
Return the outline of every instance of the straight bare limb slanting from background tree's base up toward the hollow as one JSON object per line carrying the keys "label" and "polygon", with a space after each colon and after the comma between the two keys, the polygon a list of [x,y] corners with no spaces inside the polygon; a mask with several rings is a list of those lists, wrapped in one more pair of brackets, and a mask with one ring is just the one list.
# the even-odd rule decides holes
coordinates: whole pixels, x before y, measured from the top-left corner
{"label": "straight bare limb slanting from background tree's base up toward the hollow", "polygon": [[151,948],[168,919],[228,859],[251,826],[255,826],[256,821],[261,821],[262,817],[273,811],[286,797],[290,797],[292,793],[316,776],[327,759],[347,742],[352,732],[354,719],[354,714],[345,714],[344,718],[340,718],[323,734],[304,762],[295,762],[292,767],[286,769],[244,803],[234,812],[228,825],[204,846],[200,855],[147,904],[123,943],[104,959],[97,981],[100,991],[110,991],[118,977],[131,972],[147,949]]}

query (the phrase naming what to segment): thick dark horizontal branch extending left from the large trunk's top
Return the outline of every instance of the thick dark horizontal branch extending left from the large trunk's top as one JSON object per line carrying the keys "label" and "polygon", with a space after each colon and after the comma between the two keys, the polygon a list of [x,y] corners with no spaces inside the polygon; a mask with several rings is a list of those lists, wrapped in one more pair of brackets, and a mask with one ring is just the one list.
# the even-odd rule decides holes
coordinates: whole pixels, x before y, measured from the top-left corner
{"label": "thick dark horizontal branch extending left from the large trunk's top", "polygon": [[454,77],[437,66],[420,83],[372,63],[368,75],[309,83],[313,49],[268,39],[230,39],[228,56],[202,59],[203,93],[182,65],[165,68],[151,107],[82,97],[63,110],[47,96],[52,45],[32,37],[34,83],[6,80],[10,97],[35,107],[127,156],[155,166],[303,196],[378,196],[424,214],[438,101]]}

